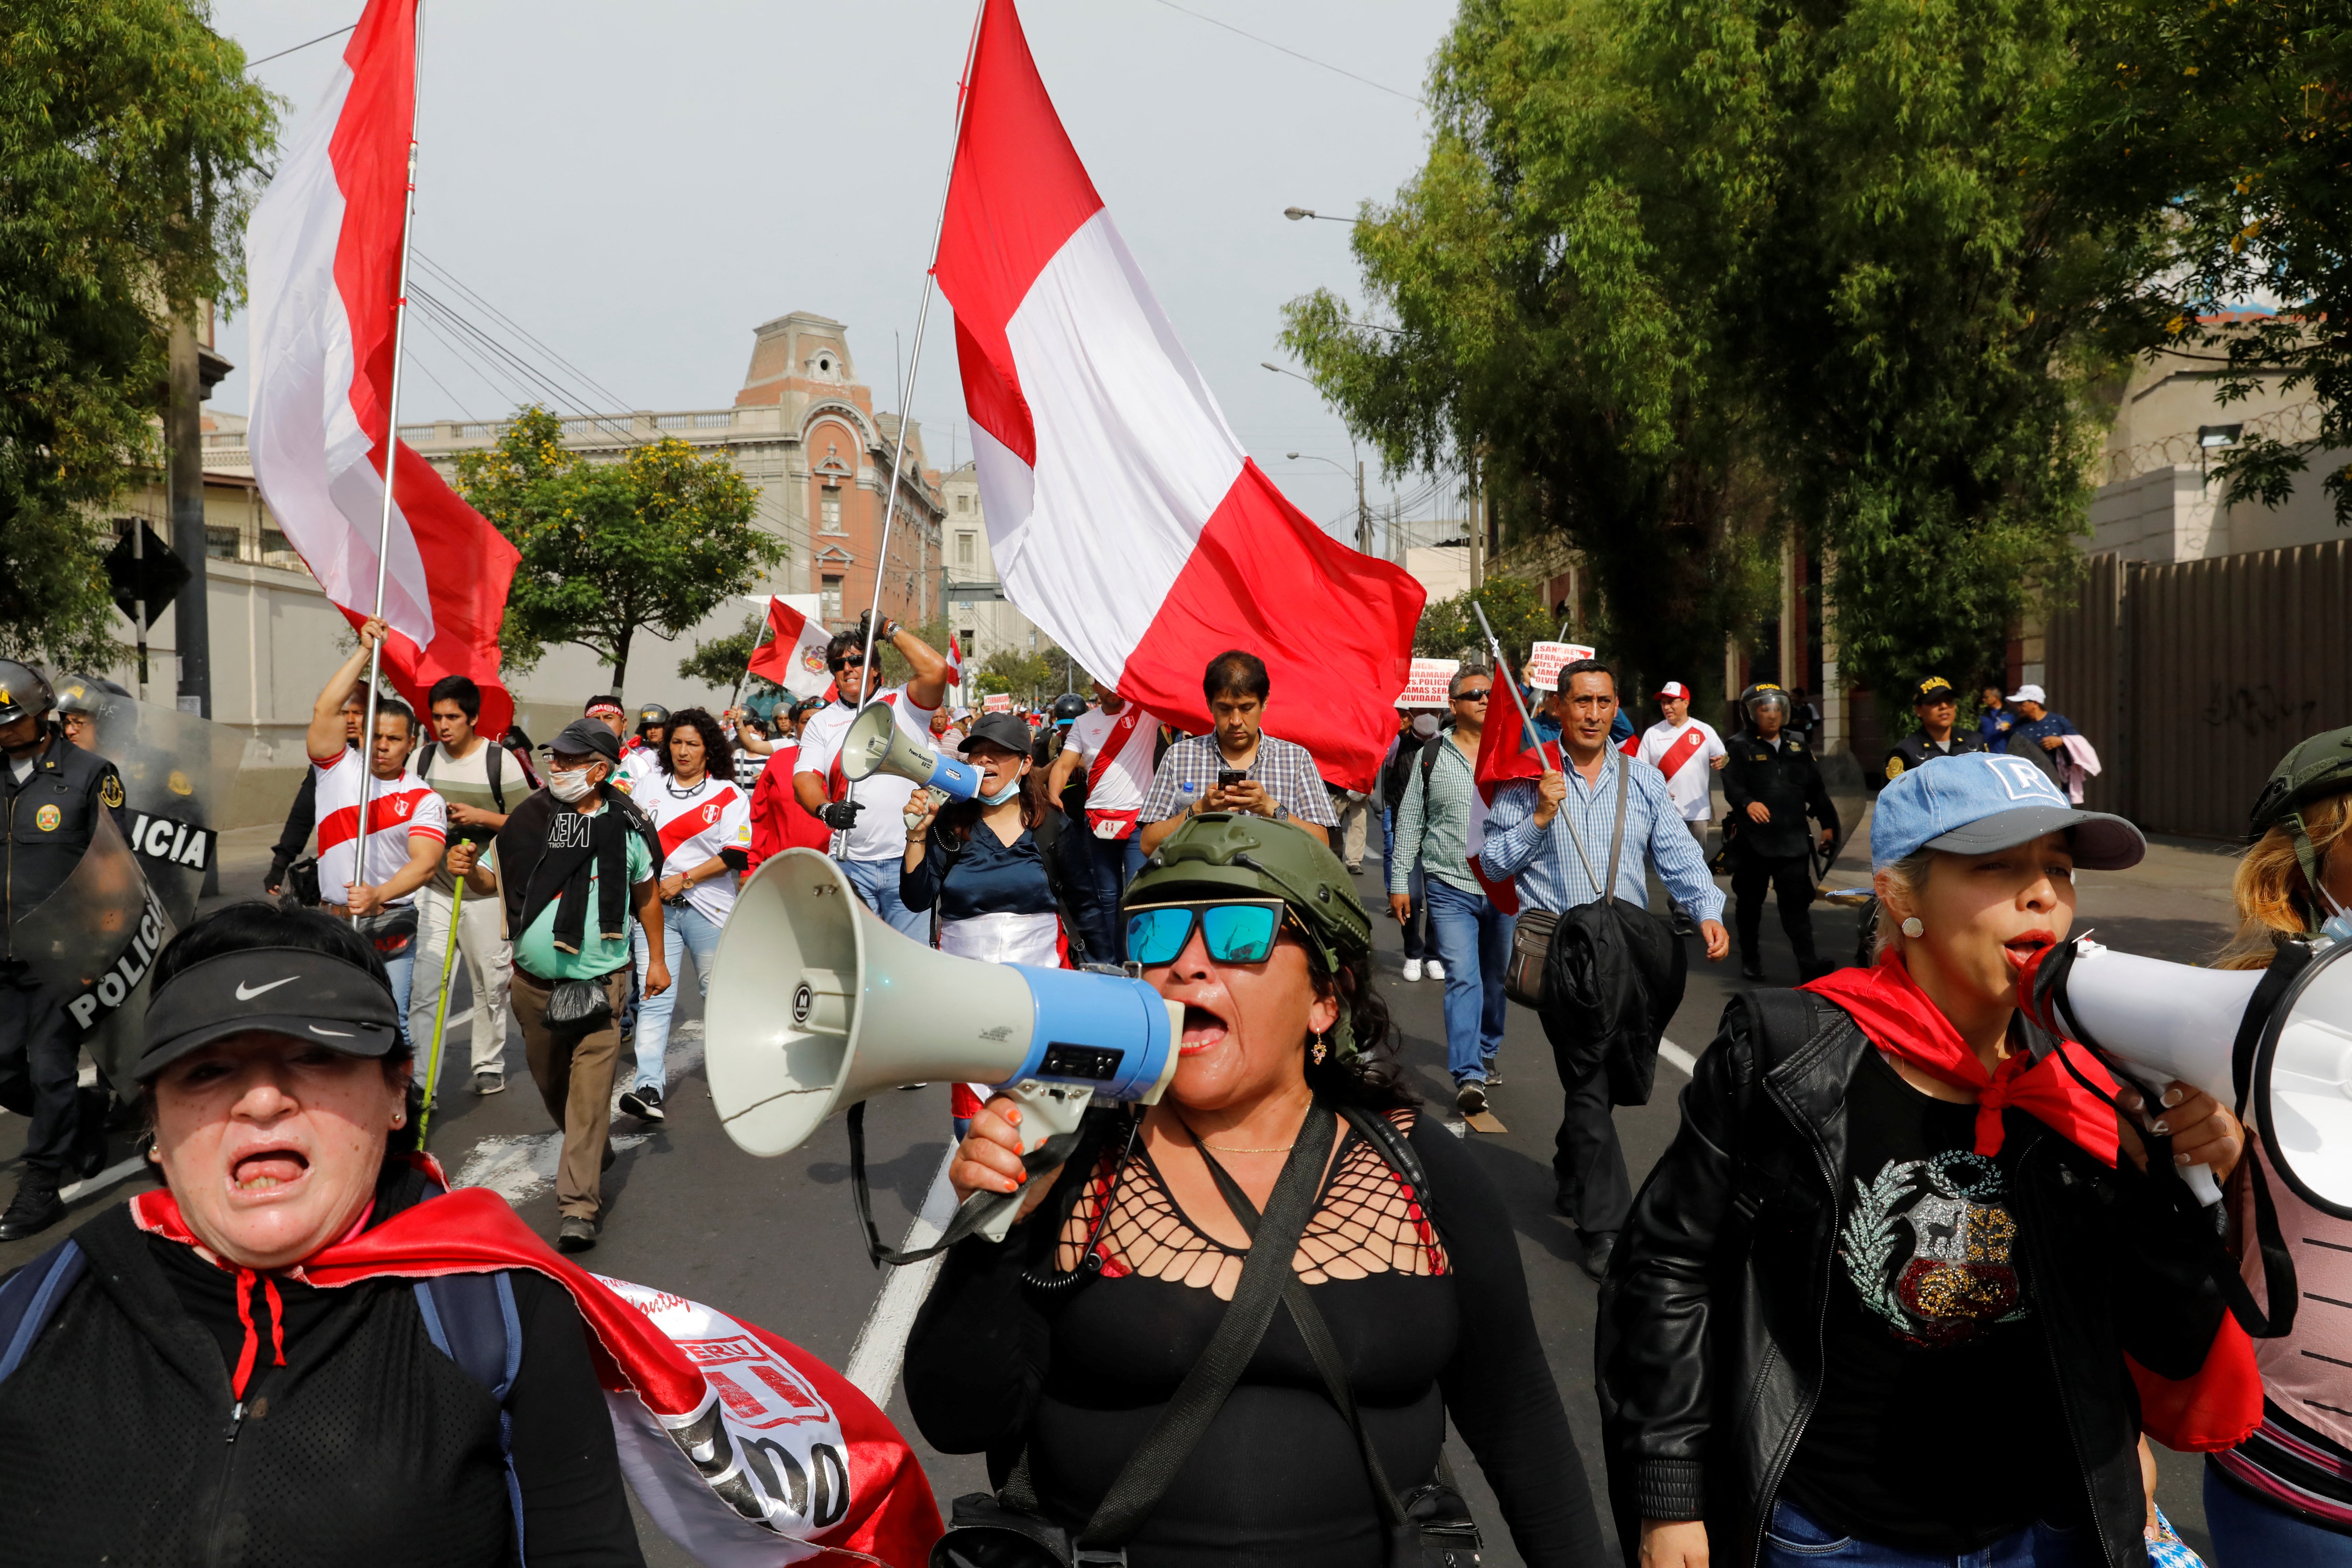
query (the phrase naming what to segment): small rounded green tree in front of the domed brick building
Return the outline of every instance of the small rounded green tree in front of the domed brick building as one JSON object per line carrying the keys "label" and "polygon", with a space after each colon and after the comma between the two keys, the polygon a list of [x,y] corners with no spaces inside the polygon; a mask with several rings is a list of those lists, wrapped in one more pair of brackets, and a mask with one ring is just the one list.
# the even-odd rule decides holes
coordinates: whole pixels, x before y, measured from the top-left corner
{"label": "small rounded green tree in front of the domed brick building", "polygon": [[562,449],[562,421],[536,404],[496,447],[459,456],[456,489],[522,555],[501,632],[513,670],[550,642],[576,642],[612,665],[621,691],[640,630],[682,637],[786,559],[724,458],[666,437],[590,463]]}

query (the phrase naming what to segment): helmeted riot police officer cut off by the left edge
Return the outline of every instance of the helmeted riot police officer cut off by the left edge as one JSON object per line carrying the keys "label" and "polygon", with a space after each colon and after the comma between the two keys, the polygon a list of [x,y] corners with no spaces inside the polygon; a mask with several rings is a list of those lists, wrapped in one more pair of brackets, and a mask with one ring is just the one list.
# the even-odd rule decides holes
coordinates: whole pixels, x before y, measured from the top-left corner
{"label": "helmeted riot police officer cut off by the left edge", "polygon": [[[49,682],[0,658],[0,825],[7,830],[5,914],[14,926],[54,893],[89,849],[99,811],[122,813],[115,764],[66,741],[49,724]],[[56,1197],[68,1161],[85,1164],[103,1140],[106,1098],[82,1095],[78,1032],[64,997],[52,997],[0,931],[0,1105],[33,1119],[24,1138],[24,1175],[0,1241],[21,1241],[66,1218]],[[103,1143],[96,1154],[103,1159]]]}

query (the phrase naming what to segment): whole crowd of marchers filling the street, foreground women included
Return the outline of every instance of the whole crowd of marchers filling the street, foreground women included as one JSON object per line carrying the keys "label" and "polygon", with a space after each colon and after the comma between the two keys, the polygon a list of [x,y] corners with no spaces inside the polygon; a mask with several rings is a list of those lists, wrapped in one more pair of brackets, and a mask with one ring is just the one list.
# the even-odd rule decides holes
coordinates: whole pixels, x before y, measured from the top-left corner
{"label": "whole crowd of marchers filling the street, foreground women included", "polygon": [[[2293,1208],[2312,1300],[2352,1255],[2352,1227],[2256,1180],[2260,1140],[2230,1107],[2190,1084],[2143,1103],[2020,1011],[2020,971],[2070,936],[2077,870],[2145,853],[2084,809],[2098,755],[2030,684],[1985,691],[1971,731],[1945,679],[1919,682],[1917,731],[1867,771],[1872,950],[1835,964],[1809,905],[1844,825],[1802,691],[1740,693],[1724,736],[1682,682],[1637,729],[1599,661],[1548,691],[1463,665],[1444,708],[1399,708],[1376,778],[1327,780],[1270,733],[1289,693],[1247,649],[1207,663],[1211,729],[1188,736],[1115,684],[1040,715],[957,708],[950,661],[884,618],[833,637],[823,698],[593,696],[534,748],[480,733],[461,677],[421,715],[369,693],[381,635],[362,625],[318,693],[273,903],[153,959],[136,1079],[167,1201],[106,1211],[0,1284],[21,1561],[214,1561],[207,1521],[230,1514],[226,1561],[390,1561],[395,1535],[397,1561],[520,1561],[524,1542],[642,1561],[562,1291],[506,1300],[520,1373],[482,1401],[416,1359],[449,1352],[421,1286],[322,1286],[437,1192],[405,1154],[428,1084],[501,1093],[515,1034],[562,1133],[553,1244],[595,1246],[614,1117],[666,1114],[675,985],[691,964],[708,990],[743,879],[793,849],[910,940],[1120,966],[1183,1009],[1160,1100],[1098,1105],[1056,1164],[997,1086],[953,1093],[957,1194],[1025,1197],[1007,1241],[948,1251],[908,1340],[913,1420],[990,1458],[934,1563],[1468,1563],[1501,1528],[1526,1563],[1569,1566],[1602,1561],[1604,1516],[1644,1568],[2180,1563],[2147,1448],[2176,1434],[2147,1380],[2194,1389],[2241,1352],[2230,1281],[2260,1276],[2256,1192]],[[969,762],[974,795],[851,780],[844,736],[877,703]],[[0,750],[14,919],[122,792],[21,665],[0,663]],[[1404,978],[1444,985],[1451,1103],[1399,1070],[1359,893],[1374,820]],[[2336,731],[2256,804],[2225,961],[2352,936],[2347,832]],[[1795,987],[1764,969],[1766,896]],[[1691,957],[1733,945],[1752,990],[1637,1190],[1613,1110],[1646,1095],[1644,1046],[1571,992],[1670,971],[1679,994]],[[61,1218],[92,1110],[7,957],[0,1105],[33,1133],[0,1239],[21,1239]],[[1515,1006],[1564,1091],[1552,1171],[1599,1286],[1604,1486],[1555,1378],[1588,1368],[1548,1363],[1461,1135],[1503,1091]],[[2183,1201],[2180,1166],[2225,1182],[2220,1222]],[[2218,1559],[2352,1561],[2352,1333],[2305,1309],[2258,1366],[2260,1427],[2206,1443]],[[214,1382],[245,1443],[219,1474],[191,1462],[221,1443]],[[1472,1516],[1449,1432],[1501,1519]],[[1037,1556],[985,1556],[1007,1521]]]}

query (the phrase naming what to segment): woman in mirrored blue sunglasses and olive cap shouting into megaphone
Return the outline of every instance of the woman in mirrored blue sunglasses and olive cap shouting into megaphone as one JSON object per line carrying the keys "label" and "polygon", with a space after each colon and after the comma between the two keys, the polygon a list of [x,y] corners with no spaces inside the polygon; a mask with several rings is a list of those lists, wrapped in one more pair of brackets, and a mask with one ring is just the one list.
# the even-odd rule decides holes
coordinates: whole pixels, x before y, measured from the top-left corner
{"label": "woman in mirrored blue sunglasses and olive cap shouting into megaphone", "polygon": [[1035,1530],[1136,1568],[1470,1561],[1451,1415],[1519,1556],[1599,1563],[1517,1237],[1397,1086],[1348,867],[1211,811],[1122,912],[1129,959],[1183,1004],[1176,1074],[1148,1110],[1091,1112],[1058,1171],[1025,1168],[1007,1098],[960,1145],[960,1197],[1030,1197],[1004,1244],[950,1248],[908,1340],[924,1436],[985,1448],[1000,1483],[931,1561],[1044,1561],[993,1540]]}

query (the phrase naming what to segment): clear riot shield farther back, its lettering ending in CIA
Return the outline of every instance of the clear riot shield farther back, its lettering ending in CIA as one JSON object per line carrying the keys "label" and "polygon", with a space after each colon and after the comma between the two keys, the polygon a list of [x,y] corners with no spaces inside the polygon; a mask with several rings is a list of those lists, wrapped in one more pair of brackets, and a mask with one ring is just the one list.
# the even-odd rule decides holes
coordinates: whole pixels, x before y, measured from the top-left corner
{"label": "clear riot shield farther back, its lettering ending in CIA", "polygon": [[96,719],[96,752],[122,773],[122,827],[132,853],[176,926],[195,919],[195,900],[219,851],[216,823],[245,762],[245,733],[162,703],[106,691],[68,675],[59,701],[80,698]]}

